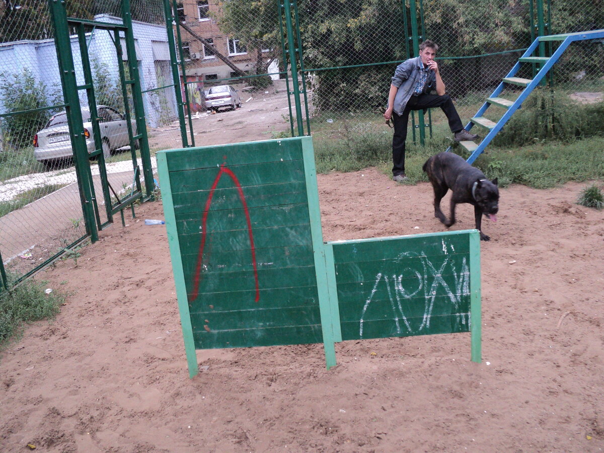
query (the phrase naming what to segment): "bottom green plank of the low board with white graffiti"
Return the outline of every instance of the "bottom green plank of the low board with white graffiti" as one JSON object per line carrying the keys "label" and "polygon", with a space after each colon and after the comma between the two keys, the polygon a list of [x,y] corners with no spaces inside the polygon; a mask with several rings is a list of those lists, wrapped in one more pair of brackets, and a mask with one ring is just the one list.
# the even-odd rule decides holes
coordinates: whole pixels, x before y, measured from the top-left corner
{"label": "bottom green plank of the low board with white graffiti", "polygon": [[417,329],[408,329],[404,320],[394,319],[372,321],[361,325],[356,323],[342,323],[342,339],[367,339],[367,338],[390,338],[394,336],[434,335],[436,333],[460,333],[469,332],[469,313],[456,316],[432,316],[429,323],[423,322],[423,318],[413,318],[407,321],[410,325],[419,326]]}

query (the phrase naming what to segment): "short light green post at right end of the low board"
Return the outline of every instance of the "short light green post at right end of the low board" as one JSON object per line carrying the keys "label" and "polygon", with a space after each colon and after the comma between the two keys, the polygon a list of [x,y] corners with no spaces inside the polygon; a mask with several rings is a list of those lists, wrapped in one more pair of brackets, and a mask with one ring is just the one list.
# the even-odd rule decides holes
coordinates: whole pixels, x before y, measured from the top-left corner
{"label": "short light green post at right end of the low board", "polygon": [[470,233],[470,332],[472,362],[482,361],[482,315],[480,304],[480,233]]}

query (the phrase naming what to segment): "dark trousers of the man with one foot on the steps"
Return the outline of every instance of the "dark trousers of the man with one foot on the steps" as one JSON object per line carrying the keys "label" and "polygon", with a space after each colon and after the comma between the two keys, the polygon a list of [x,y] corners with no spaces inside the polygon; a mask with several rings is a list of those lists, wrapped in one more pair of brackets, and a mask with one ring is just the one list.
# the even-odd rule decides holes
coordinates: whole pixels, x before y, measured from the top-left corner
{"label": "dark trousers of the man with one foot on the steps", "polygon": [[409,112],[412,110],[423,110],[432,107],[440,107],[447,119],[451,132],[459,132],[463,129],[463,124],[453,101],[448,94],[439,96],[437,94],[420,94],[411,96],[402,115],[392,113],[392,122],[394,123],[394,136],[392,137],[392,173],[394,176],[405,173],[405,141],[407,138],[407,123],[409,122]]}

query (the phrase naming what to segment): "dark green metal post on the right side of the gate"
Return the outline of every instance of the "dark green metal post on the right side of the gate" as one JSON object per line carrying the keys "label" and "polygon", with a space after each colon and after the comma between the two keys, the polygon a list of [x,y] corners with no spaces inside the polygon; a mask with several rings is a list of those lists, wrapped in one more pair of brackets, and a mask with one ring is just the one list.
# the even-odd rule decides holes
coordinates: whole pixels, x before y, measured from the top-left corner
{"label": "dark green metal post on the right side of the gate", "polygon": [[[155,193],[155,182],[153,181],[153,169],[151,166],[151,153],[149,151],[149,139],[147,138],[147,121],[145,120],[145,109],[143,106],[143,92],[141,91],[141,79],[138,74],[138,63],[137,63],[137,49],[134,44],[134,36],[132,32],[132,14],[130,14],[130,0],[121,1],[121,12],[122,21],[127,27],[125,33],[126,37],[126,53],[128,55],[128,68],[130,69],[130,80],[132,81],[132,101],[134,103],[134,116],[137,124],[137,137],[138,144],[141,151],[141,161],[143,162],[143,178],[145,181],[145,187],[147,191],[147,198],[153,199]],[[117,39],[117,38],[116,38]],[[119,41],[118,41],[119,42]],[[122,62],[118,63],[121,67]],[[122,68],[123,71],[123,68]],[[125,88],[125,87],[124,87]],[[130,150],[134,148],[134,138],[132,137],[132,123],[130,123],[130,113],[128,101],[124,97],[124,103],[126,108],[126,124],[130,135]],[[132,161],[134,168],[136,169],[136,158],[132,153]],[[137,188],[141,189],[140,181],[137,178]]]}

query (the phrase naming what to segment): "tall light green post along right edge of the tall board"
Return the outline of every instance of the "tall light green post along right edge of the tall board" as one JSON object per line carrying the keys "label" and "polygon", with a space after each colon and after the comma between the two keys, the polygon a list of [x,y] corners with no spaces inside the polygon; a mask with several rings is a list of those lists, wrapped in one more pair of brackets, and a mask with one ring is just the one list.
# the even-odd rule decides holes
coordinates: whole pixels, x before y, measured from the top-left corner
{"label": "tall light green post along right edge of the tall board", "polygon": [[[323,348],[327,370],[336,365],[336,352],[333,345],[333,325],[338,324],[339,318],[334,319],[330,296],[335,297],[335,286],[329,287],[327,279],[326,246],[323,243],[323,230],[321,229],[321,210],[319,208],[319,191],[316,185],[315,154],[312,149],[312,138],[302,139],[302,154],[304,157],[304,175],[306,176],[306,195],[308,198],[308,211],[310,217],[310,234],[312,236],[313,255],[315,257],[316,289],[319,295],[319,310],[321,313],[321,329],[323,330]],[[333,268],[332,263],[329,268]],[[330,291],[331,290],[331,291]]]}

